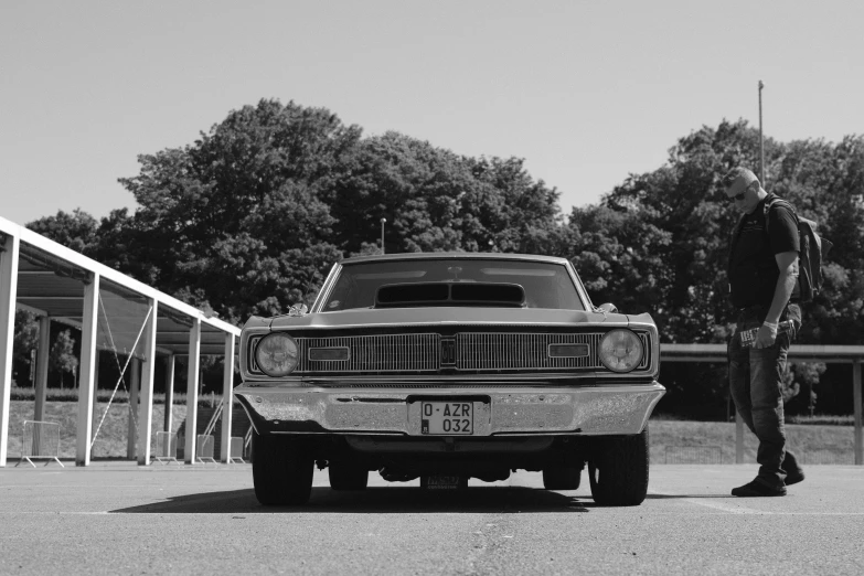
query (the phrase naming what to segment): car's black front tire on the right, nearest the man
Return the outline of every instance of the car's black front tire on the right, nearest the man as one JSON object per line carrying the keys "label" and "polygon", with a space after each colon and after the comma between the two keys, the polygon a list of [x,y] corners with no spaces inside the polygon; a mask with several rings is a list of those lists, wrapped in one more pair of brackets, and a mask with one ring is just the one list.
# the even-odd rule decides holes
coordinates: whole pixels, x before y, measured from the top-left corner
{"label": "car's black front tire on the right, nearest the man", "polygon": [[588,462],[591,495],[604,506],[638,506],[648,494],[648,428],[636,436],[604,438]]}

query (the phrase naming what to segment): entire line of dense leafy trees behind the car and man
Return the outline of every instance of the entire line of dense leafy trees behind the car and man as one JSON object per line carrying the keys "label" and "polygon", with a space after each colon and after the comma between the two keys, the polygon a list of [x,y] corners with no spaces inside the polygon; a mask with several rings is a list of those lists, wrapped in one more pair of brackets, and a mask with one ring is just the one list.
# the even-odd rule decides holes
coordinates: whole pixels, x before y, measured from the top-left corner
{"label": "entire line of dense leafy trees behind the car and man", "polygon": [[[834,243],[824,291],[806,305],[798,342],[861,344],[864,137],[767,138],[764,147],[765,188]],[[190,145],[139,156],[139,173],[119,179],[135,212],[99,221],[58,212],[28,227],[241,326],[311,303],[334,262],[380,250],[384,217],[387,253],[563,256],[595,303],[651,313],[662,342],[725,342],[726,252],[737,214],[721,178],[736,166],[756,169],[758,154],[759,134],[747,121],[703,126],[657,170],[632,173],[597,204],[564,214],[558,190],[522,159],[459,156],[398,132],[364,137],[326,108],[263,99]],[[664,366],[661,377],[675,393],[668,398],[695,407],[725,397],[723,373],[682,364]],[[797,366],[787,393],[832,377],[842,383],[842,367]]]}

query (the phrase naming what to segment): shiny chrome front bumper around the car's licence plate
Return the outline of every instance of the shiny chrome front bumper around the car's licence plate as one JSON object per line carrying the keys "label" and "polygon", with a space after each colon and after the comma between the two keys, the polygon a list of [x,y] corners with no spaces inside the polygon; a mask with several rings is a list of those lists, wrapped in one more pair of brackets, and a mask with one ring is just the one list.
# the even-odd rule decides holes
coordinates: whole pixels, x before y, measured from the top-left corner
{"label": "shiny chrome front bumper around the car's licence plate", "polygon": [[584,388],[330,390],[244,386],[234,391],[259,434],[422,436],[420,399],[473,403],[473,436],[639,434],[665,394],[651,384]]}

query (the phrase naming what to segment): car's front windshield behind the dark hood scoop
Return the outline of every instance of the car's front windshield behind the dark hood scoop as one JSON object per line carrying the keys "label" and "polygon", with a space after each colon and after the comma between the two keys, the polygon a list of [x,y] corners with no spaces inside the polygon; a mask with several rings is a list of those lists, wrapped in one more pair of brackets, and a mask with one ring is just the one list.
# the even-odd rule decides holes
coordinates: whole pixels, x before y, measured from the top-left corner
{"label": "car's front windshield behind the dark hood scoop", "polygon": [[500,259],[423,259],[350,264],[342,267],[321,311],[371,308],[382,286],[428,282],[519,285],[526,308],[585,310],[561,264]]}

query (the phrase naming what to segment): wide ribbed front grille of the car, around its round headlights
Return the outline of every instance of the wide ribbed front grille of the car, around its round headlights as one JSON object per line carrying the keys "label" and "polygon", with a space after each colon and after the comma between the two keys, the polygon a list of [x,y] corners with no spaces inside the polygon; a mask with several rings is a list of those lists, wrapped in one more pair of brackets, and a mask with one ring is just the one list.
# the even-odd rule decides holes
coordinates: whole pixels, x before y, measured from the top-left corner
{"label": "wide ribbed front grille of the car, around its round headlights", "polygon": [[[638,332],[647,353],[637,370],[650,365],[648,334]],[[597,355],[604,333],[499,333],[459,332],[452,338],[438,333],[297,338],[300,362],[294,374],[467,374],[536,371],[605,371]],[[551,344],[585,344],[588,354],[550,358]],[[253,342],[253,346],[255,343]],[[348,348],[349,360],[310,360],[313,348]],[[252,372],[260,373],[254,364]]]}

